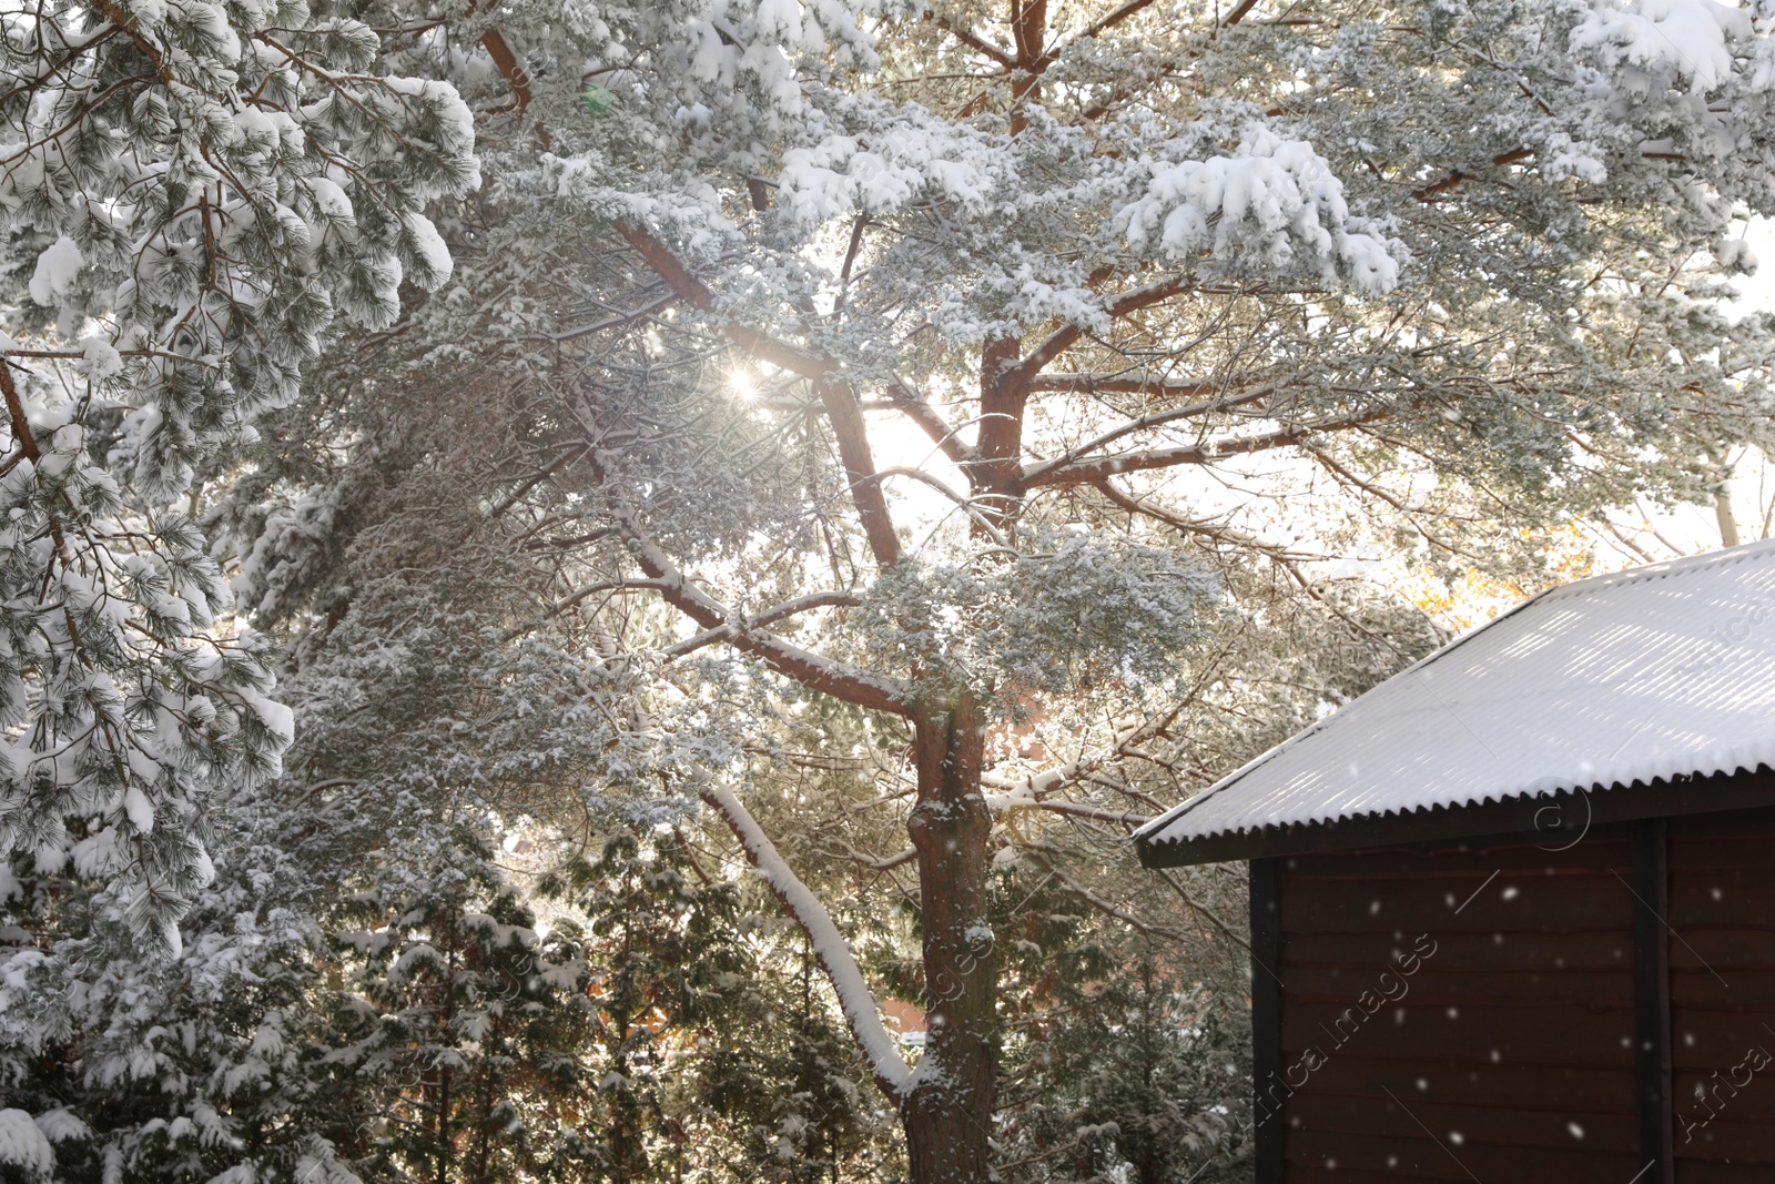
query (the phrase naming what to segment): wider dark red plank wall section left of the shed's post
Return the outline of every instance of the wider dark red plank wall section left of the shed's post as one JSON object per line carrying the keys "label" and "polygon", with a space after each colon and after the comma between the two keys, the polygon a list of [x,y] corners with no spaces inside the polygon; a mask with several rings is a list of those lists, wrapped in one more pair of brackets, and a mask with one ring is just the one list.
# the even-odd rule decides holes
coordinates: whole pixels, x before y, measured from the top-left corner
{"label": "wider dark red plank wall section left of the shed's post", "polygon": [[1631,868],[1619,825],[1278,859],[1283,1179],[1628,1184]]}

